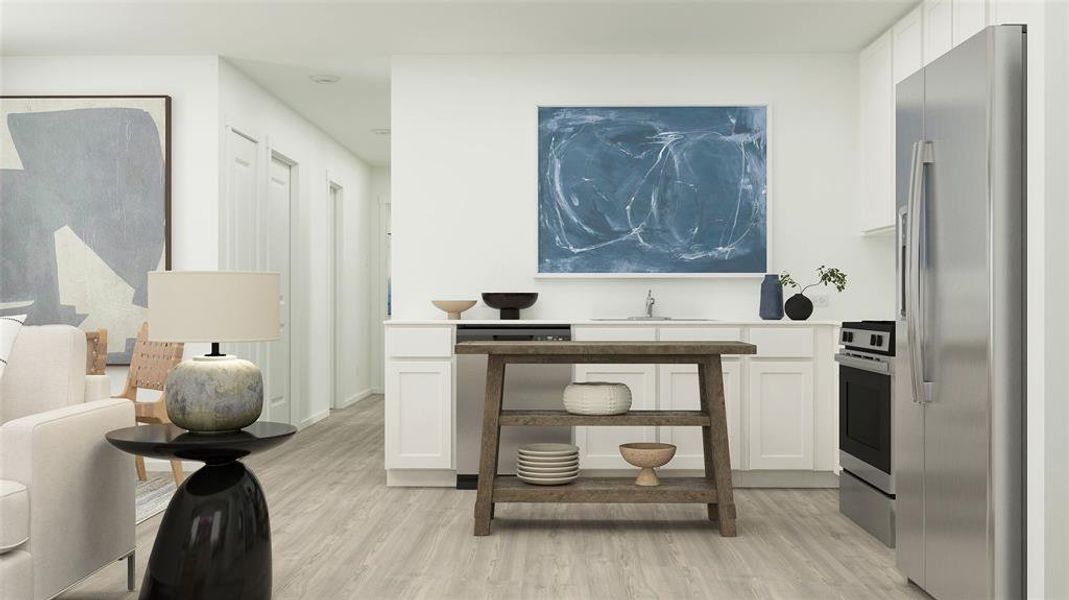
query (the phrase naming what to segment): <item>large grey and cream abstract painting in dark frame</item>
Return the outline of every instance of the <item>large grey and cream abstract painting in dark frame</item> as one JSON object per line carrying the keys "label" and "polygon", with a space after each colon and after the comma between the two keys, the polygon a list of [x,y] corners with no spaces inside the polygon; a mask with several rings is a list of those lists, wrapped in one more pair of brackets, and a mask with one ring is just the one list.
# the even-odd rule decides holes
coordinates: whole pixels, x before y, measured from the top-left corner
{"label": "large grey and cream abstract painting in dark frame", "polygon": [[129,363],[169,268],[170,97],[0,97],[0,316],[108,329]]}

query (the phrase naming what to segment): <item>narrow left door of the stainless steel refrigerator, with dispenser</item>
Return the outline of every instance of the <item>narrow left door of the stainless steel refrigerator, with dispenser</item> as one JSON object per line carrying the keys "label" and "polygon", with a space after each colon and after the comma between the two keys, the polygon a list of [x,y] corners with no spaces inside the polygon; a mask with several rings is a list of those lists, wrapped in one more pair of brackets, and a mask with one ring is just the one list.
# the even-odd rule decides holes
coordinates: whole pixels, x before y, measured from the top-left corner
{"label": "narrow left door of the stainless steel refrigerator, with dispenser", "polygon": [[895,196],[898,205],[897,302],[898,322],[895,324],[895,394],[892,448],[895,475],[895,554],[896,563],[908,578],[925,584],[924,554],[924,474],[925,474],[925,411],[913,402],[910,383],[909,338],[904,321],[905,265],[909,215],[905,214],[910,189],[910,160],[913,143],[924,135],[924,73],[916,73],[898,84],[895,113]]}

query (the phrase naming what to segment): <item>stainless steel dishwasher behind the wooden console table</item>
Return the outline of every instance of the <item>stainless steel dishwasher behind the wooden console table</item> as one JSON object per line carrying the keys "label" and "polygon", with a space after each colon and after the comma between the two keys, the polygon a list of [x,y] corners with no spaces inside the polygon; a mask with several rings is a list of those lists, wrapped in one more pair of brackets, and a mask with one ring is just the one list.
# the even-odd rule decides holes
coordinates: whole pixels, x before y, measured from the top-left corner
{"label": "stainless steel dishwasher behind the wooden console table", "polygon": [[[570,341],[570,325],[458,325],[456,341]],[[506,409],[562,409],[571,365],[509,365],[505,371]],[[479,480],[482,409],[486,399],[486,355],[456,356],[456,487],[475,489]],[[516,448],[537,442],[571,443],[570,427],[502,427],[497,472],[516,472]]]}

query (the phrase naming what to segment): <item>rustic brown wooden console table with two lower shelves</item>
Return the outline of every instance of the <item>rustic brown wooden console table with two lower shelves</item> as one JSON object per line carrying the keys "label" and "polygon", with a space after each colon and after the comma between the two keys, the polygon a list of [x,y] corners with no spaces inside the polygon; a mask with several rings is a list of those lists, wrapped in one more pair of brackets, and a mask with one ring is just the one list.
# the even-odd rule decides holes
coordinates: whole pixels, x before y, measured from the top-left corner
{"label": "rustic brown wooden console table with two lower shelves", "polygon": [[[506,502],[552,503],[701,503],[722,536],[735,535],[734,493],[728,453],[724,405],[723,354],[754,354],[757,347],[718,342],[578,342],[466,341],[456,354],[486,354],[486,402],[482,416],[479,491],[475,502],[475,535],[489,536],[494,505]],[[632,411],[623,415],[573,415],[560,411],[503,411],[505,366],[513,363],[692,364],[698,366],[701,399],[698,411]],[[666,478],[660,487],[641,488],[632,478],[580,478],[566,486],[529,486],[497,474],[501,426],[665,425],[701,427],[706,476]]]}

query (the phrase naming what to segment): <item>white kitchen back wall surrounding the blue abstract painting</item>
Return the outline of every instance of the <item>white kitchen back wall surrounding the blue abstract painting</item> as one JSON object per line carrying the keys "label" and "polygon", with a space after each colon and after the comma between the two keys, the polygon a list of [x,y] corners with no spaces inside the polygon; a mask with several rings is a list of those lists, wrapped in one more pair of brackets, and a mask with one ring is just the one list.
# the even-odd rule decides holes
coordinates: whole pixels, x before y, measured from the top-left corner
{"label": "white kitchen back wall surrounding the blue abstract painting", "polygon": [[[758,278],[536,279],[539,105],[770,106],[770,272],[842,267],[850,287],[815,319],[889,318],[889,236],[850,224],[856,175],[853,55],[419,56],[392,66],[393,317],[430,301],[538,291],[530,318],[660,313],[757,318]],[[834,292],[833,292],[834,293]],[[466,317],[494,318],[483,305]]]}

